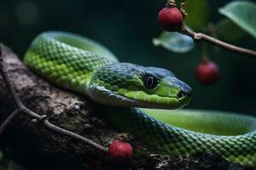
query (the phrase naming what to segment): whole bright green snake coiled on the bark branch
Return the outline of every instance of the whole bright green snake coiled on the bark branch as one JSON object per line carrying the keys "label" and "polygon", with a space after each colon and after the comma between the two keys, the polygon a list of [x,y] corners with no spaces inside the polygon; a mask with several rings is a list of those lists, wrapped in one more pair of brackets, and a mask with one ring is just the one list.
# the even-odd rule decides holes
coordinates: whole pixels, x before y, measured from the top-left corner
{"label": "whole bright green snake coiled on the bark branch", "polygon": [[256,167],[256,119],[216,111],[171,111],[188,105],[192,93],[171,71],[119,63],[101,44],[61,31],[36,37],[24,62],[56,86],[104,105],[109,122],[155,150],[172,156],[206,152]]}

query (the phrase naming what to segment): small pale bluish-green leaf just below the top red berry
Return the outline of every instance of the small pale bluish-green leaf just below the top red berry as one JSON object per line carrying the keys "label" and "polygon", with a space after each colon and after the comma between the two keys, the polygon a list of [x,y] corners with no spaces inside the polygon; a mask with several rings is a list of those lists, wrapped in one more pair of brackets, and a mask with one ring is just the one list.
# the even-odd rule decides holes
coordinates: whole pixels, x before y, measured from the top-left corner
{"label": "small pale bluish-green leaf just below the top red berry", "polygon": [[177,32],[161,33],[160,37],[153,38],[154,46],[162,46],[175,53],[187,53],[195,46],[191,37]]}

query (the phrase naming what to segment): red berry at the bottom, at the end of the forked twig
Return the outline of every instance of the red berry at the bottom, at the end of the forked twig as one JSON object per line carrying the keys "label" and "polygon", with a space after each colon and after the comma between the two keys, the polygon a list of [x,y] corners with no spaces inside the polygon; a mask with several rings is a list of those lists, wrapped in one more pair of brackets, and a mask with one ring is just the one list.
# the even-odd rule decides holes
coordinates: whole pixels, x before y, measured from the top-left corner
{"label": "red berry at the bottom, at the end of the forked twig", "polygon": [[133,156],[131,144],[114,140],[108,147],[108,156],[116,166],[127,165]]}

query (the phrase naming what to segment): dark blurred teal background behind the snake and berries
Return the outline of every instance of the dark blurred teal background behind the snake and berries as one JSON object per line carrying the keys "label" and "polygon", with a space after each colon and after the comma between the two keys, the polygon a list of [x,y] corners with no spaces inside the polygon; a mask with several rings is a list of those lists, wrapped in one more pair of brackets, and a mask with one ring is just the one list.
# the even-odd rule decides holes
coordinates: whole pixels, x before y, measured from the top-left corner
{"label": "dark blurred teal background behind the snake and berries", "polygon": [[[209,0],[212,23],[223,18],[218,8],[228,0]],[[110,48],[121,61],[167,68],[194,89],[189,108],[256,111],[256,59],[220,50],[210,57],[220,68],[221,79],[204,87],[195,79],[195,67],[201,61],[201,44],[187,54],[173,54],[155,48],[160,26],[156,16],[164,0],[5,0],[0,2],[0,40],[23,57],[33,37],[42,31],[71,31],[90,37]],[[255,40],[236,42],[255,49]],[[212,46],[210,46],[212,48]]]}

